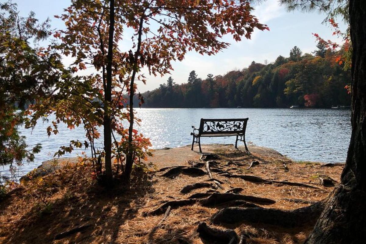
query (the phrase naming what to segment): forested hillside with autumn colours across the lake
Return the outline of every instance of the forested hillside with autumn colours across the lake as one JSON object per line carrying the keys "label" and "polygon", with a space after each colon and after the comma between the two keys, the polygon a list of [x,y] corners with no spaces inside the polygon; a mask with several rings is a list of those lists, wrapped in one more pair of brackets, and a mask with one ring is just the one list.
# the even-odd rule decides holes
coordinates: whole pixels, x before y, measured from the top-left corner
{"label": "forested hillside with autumn colours across the lake", "polygon": [[[284,108],[291,105],[330,108],[350,105],[345,87],[350,83],[350,70],[341,61],[345,47],[333,51],[319,43],[312,54],[296,46],[290,57],[279,56],[269,64],[254,61],[243,70],[225,75],[197,77],[191,71],[187,83],[167,83],[143,94],[149,108]],[[267,62],[265,62],[267,63]],[[198,69],[199,67],[197,67]],[[179,80],[180,82],[182,80]]]}

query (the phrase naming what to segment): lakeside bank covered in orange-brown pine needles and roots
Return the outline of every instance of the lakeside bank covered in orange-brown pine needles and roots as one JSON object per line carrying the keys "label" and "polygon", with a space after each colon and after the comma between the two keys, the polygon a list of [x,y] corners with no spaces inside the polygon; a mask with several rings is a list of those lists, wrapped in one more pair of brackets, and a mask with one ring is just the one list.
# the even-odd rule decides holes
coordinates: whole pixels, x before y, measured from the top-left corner
{"label": "lakeside bank covered in orange-brown pine needles and roots", "polygon": [[[189,146],[156,150],[148,158],[152,166],[147,171],[135,170],[129,185],[117,185],[112,191],[85,179],[86,169],[71,167],[68,173],[56,174],[64,183],[48,189],[43,205],[39,196],[30,194],[37,185],[23,185],[0,203],[0,240],[205,243],[197,231],[199,223],[206,222],[212,228],[232,229],[238,236],[248,233],[250,243],[297,243],[306,238],[316,219],[284,227],[269,226],[261,222],[263,218],[235,224],[213,224],[212,218],[232,207],[293,211],[310,206],[325,199],[334,187],[323,185],[322,179],[332,179],[336,185],[343,169],[342,165],[296,163],[265,147],[249,146],[251,154],[224,144],[203,145],[202,150],[219,158],[201,159]],[[252,165],[254,161],[258,164]],[[49,175],[43,179],[50,180]],[[161,223],[168,205],[171,210]]]}

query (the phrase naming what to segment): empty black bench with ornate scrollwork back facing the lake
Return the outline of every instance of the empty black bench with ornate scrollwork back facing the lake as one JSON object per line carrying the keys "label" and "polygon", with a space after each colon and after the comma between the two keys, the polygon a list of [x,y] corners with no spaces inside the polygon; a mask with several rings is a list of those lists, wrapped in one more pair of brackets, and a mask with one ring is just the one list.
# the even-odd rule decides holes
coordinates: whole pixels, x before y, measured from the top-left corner
{"label": "empty black bench with ornate scrollwork back facing the lake", "polygon": [[201,119],[199,128],[197,129],[192,125],[193,136],[192,148],[194,143],[198,143],[199,152],[201,150],[201,137],[216,137],[216,136],[236,136],[235,148],[238,149],[238,140],[244,142],[245,150],[249,152],[247,144],[245,143],[245,130],[247,128],[246,119]]}

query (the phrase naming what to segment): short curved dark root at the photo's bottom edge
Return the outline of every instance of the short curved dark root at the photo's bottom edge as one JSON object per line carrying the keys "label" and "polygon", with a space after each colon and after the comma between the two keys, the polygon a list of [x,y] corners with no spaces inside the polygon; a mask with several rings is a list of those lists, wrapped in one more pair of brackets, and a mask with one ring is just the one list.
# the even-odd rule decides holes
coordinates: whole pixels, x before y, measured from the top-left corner
{"label": "short curved dark root at the photo's bottom edge", "polygon": [[238,244],[239,236],[236,234],[235,230],[227,229],[221,230],[217,228],[212,228],[206,224],[206,222],[201,222],[198,224],[197,232],[203,243],[222,243],[222,244]]}

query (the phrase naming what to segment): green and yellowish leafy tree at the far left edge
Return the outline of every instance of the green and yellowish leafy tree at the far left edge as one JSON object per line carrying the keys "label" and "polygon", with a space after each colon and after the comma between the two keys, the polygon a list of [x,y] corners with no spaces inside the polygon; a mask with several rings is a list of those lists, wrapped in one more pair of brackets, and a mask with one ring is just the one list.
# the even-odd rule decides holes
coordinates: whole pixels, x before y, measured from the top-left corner
{"label": "green and yellowish leafy tree at the far left edge", "polygon": [[[60,56],[40,46],[50,34],[49,20],[39,22],[35,14],[19,15],[11,1],[0,3],[0,165],[33,161],[37,144],[27,149],[18,131],[27,116],[25,108],[37,97],[52,94],[62,67]],[[20,110],[18,110],[20,109]]]}

